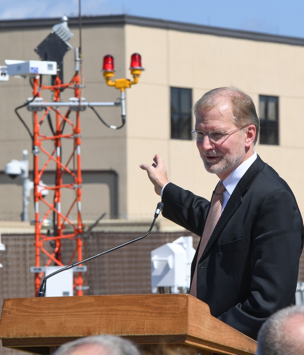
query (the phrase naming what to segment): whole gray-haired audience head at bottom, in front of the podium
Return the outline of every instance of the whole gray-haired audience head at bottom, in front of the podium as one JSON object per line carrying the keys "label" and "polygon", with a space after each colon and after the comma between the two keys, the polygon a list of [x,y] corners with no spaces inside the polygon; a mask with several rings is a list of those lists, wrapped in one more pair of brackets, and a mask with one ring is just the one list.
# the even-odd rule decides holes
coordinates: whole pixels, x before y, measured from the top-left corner
{"label": "whole gray-haired audience head at bottom, in front of the podium", "polygon": [[91,335],[60,346],[53,355],[140,355],[129,340],[115,335]]}

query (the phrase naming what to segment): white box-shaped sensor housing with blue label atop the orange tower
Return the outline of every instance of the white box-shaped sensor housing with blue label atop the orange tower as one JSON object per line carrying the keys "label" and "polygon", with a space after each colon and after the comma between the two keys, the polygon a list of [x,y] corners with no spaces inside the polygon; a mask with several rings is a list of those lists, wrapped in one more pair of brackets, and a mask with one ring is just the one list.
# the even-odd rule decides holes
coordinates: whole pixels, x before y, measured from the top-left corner
{"label": "white box-shaped sensor housing with blue label atop the orange tower", "polygon": [[8,75],[56,75],[57,63],[45,60],[5,60]]}

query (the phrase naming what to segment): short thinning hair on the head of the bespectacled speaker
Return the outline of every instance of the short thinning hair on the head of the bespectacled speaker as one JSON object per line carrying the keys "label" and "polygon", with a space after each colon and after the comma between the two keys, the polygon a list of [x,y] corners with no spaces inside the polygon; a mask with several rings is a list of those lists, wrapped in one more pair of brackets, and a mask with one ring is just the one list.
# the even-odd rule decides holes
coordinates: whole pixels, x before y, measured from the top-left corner
{"label": "short thinning hair on the head of the bespectacled speaker", "polygon": [[225,103],[230,104],[233,122],[238,127],[255,125],[255,144],[259,136],[260,122],[252,98],[242,90],[234,86],[212,89],[197,100],[192,112],[196,118],[198,113],[208,112]]}

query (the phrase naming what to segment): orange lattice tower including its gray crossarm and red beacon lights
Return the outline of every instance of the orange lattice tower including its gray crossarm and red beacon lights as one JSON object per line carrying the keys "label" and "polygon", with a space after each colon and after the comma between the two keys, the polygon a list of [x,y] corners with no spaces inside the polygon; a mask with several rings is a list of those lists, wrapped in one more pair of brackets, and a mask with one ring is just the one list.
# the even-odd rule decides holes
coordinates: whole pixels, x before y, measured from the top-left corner
{"label": "orange lattice tower including its gray crossarm and red beacon lights", "polygon": [[[77,52],[77,51],[76,51]],[[75,54],[76,54],[75,52]],[[79,61],[78,54],[76,54],[75,61]],[[55,62],[48,62],[55,63]],[[56,63],[55,63],[56,64]],[[120,90],[120,98],[115,102],[86,102],[82,98],[82,89],[84,87],[83,82],[81,83],[79,77],[79,71],[75,66],[75,75],[72,80],[67,83],[61,83],[59,76],[57,75],[53,81],[53,85],[43,85],[40,82],[40,75],[32,76],[32,85],[33,85],[33,99],[31,99],[27,104],[20,106],[27,106],[28,110],[33,112],[33,133],[29,133],[33,139],[33,154],[34,154],[34,208],[35,208],[35,294],[38,295],[39,287],[41,284],[41,278],[44,273],[44,268],[41,267],[40,256],[45,254],[48,257],[48,260],[45,266],[49,266],[54,262],[57,266],[63,266],[62,257],[61,257],[61,247],[62,239],[69,238],[75,240],[75,249],[72,253],[70,259],[66,263],[69,265],[72,263],[74,257],[77,257],[77,262],[82,261],[82,233],[83,233],[83,223],[81,217],[81,127],[80,127],[80,112],[86,107],[90,107],[94,113],[99,117],[99,119],[111,129],[120,129],[125,125],[126,122],[126,111],[125,111],[125,89],[129,88],[131,85],[136,84],[139,80],[139,76],[143,70],[141,66],[141,58],[138,53],[134,53],[131,56],[131,74],[133,80],[126,78],[115,79],[114,77],[114,59],[111,55],[106,55],[104,57],[104,66],[103,72],[107,85],[115,87]],[[80,66],[81,68],[81,66]],[[82,69],[80,69],[82,72]],[[82,76],[83,77],[83,76]],[[65,89],[72,89],[74,91],[74,97],[69,99],[69,102],[61,101],[61,93]],[[41,92],[44,90],[49,90],[52,92],[53,101],[44,102],[41,97]],[[107,124],[101,117],[94,107],[100,106],[121,106],[121,118],[122,124],[119,127]],[[68,107],[67,112],[63,115],[60,111],[60,108]],[[17,108],[17,109],[19,109]],[[17,113],[17,109],[15,110]],[[41,112],[45,110],[42,117]],[[55,113],[56,116],[56,126],[52,128],[51,126],[51,135],[42,134],[41,125],[48,119],[50,112]],[[75,118],[72,122],[69,119],[70,114],[74,114]],[[18,115],[21,119],[20,115]],[[22,120],[22,119],[21,119]],[[24,122],[23,122],[24,123]],[[27,127],[28,128],[28,127]],[[63,128],[65,131],[69,130],[69,133],[63,134]],[[68,128],[68,129],[67,129]],[[69,155],[67,161],[63,161],[61,154],[61,147],[63,141],[72,140],[73,148],[72,152]],[[46,147],[49,147],[49,142],[52,142],[52,150],[49,152]],[[40,159],[40,165],[43,164],[42,168],[39,168],[39,153],[45,155],[45,162],[41,163],[43,159]],[[45,186],[42,183],[42,176],[50,163],[55,163],[56,165],[56,179],[54,186]],[[73,168],[70,165],[73,164]],[[71,178],[70,184],[63,184],[63,176],[69,175]],[[62,211],[61,200],[62,200],[62,190],[70,189],[75,191],[75,198],[72,201],[67,211]],[[45,190],[53,191],[54,200],[52,203],[46,201],[44,195]],[[66,201],[65,201],[66,202]],[[41,208],[39,205],[43,203],[46,206],[46,212],[41,213]],[[72,210],[76,209],[76,221],[72,221],[69,216],[71,215]],[[45,209],[43,209],[45,210]],[[42,233],[42,227],[47,222],[48,216],[53,214],[53,235]],[[46,223],[48,224],[48,222]],[[65,233],[67,224],[72,227],[72,233]],[[54,251],[48,252],[44,247],[45,242],[51,242],[54,245]],[[80,270],[82,268],[80,267]],[[83,295],[83,278],[81,271],[74,274],[74,290],[76,290],[76,295]]]}

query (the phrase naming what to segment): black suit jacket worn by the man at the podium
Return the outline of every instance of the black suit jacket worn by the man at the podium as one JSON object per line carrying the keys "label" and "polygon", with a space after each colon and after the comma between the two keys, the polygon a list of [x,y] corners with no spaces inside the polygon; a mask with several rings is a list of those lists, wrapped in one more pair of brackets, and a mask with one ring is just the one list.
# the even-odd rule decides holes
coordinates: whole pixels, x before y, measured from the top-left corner
{"label": "black suit jacket worn by the man at the podium", "polygon": [[[170,183],[164,217],[200,235],[210,202]],[[241,178],[198,262],[197,297],[214,317],[256,339],[272,313],[294,303],[303,221],[295,197],[258,156]],[[197,261],[195,253],[191,280]]]}

